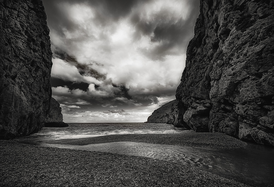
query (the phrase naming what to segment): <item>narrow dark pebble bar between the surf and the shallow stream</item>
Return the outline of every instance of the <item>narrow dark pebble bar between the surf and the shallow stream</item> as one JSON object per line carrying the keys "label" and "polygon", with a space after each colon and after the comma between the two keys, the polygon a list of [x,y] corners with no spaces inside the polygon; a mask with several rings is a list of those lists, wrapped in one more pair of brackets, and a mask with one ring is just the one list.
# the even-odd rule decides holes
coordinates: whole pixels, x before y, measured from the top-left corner
{"label": "narrow dark pebble bar between the surf and the shallow stream", "polygon": [[109,142],[143,142],[151,144],[181,145],[203,148],[241,148],[247,143],[223,133],[182,133],[182,134],[123,134],[54,140],[48,144],[87,145]]}

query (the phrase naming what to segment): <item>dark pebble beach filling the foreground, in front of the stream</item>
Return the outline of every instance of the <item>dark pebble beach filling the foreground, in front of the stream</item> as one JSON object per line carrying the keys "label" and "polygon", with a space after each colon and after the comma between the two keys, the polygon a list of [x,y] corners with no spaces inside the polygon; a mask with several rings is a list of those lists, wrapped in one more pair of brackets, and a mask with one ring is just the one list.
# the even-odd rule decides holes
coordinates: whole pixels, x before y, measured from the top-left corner
{"label": "dark pebble beach filling the foreground, in front of the stream", "polygon": [[178,163],[0,140],[0,186],[247,186]]}

